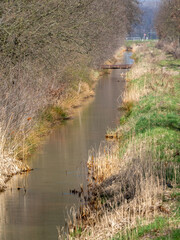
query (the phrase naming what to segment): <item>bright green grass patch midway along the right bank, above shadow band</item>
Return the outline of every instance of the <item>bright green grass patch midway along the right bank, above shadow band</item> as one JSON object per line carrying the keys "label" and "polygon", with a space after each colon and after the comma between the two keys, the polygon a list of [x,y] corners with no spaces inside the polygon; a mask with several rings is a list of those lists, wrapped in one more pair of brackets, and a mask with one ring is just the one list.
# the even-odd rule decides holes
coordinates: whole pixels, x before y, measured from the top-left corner
{"label": "bright green grass patch midway along the right bank, above shadow band", "polygon": [[120,119],[120,123],[131,126],[129,132],[137,134],[155,127],[180,130],[178,98],[169,94],[145,96]]}

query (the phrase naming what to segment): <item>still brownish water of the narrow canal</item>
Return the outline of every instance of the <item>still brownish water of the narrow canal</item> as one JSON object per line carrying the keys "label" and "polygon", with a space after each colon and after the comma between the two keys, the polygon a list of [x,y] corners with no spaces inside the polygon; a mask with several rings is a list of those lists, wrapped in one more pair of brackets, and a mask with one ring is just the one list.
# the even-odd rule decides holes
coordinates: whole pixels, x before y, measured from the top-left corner
{"label": "still brownish water of the narrow canal", "polygon": [[[125,63],[132,63],[131,53]],[[107,128],[117,125],[118,101],[124,90],[121,73],[114,70],[103,76],[95,99],[78,110],[74,120],[55,129],[48,141],[33,156],[29,174],[14,176],[0,194],[0,240],[54,240],[56,226],[65,224],[67,209],[77,206],[77,196],[69,194],[86,182],[84,166],[88,151],[98,148]],[[17,187],[26,187],[26,192]]]}

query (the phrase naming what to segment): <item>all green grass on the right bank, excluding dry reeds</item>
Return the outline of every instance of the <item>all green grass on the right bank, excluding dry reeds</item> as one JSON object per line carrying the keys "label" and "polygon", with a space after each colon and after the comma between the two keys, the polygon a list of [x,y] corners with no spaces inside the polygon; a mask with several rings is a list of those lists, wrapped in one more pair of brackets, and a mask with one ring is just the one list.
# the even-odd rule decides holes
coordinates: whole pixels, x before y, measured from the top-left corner
{"label": "all green grass on the right bank, excluding dry reeds", "polygon": [[[154,44],[154,43],[153,43]],[[153,47],[153,44],[150,44]],[[135,55],[137,61],[143,60],[142,54]],[[167,56],[158,63],[160,67],[166,67],[175,71],[180,70],[180,59],[173,59]],[[120,119],[121,125],[121,149],[120,158],[127,150],[133,147],[136,142],[136,154],[140,155],[143,147],[148,154],[152,155],[154,161],[166,162],[166,181],[174,181],[175,165],[180,163],[180,79],[179,75],[169,76],[163,79],[162,74],[146,73],[138,79],[128,83],[131,88],[141,91],[146,87],[149,89],[147,96],[142,96],[138,103],[132,103],[130,111],[126,112]],[[166,82],[173,83],[169,90]],[[151,90],[151,86],[153,88]],[[133,143],[132,135],[135,136]],[[179,168],[176,168],[176,186],[180,185]],[[167,200],[169,201],[169,200]],[[173,202],[172,202],[173,201]],[[137,225],[136,228],[117,234],[112,240],[136,240],[136,239],[180,239],[180,229],[176,229],[180,218],[180,193],[174,190],[171,194],[171,203],[175,207],[172,217],[158,217],[153,223]],[[173,210],[172,210],[173,213]],[[170,225],[170,221],[173,224]]]}

